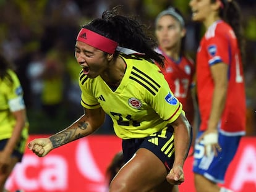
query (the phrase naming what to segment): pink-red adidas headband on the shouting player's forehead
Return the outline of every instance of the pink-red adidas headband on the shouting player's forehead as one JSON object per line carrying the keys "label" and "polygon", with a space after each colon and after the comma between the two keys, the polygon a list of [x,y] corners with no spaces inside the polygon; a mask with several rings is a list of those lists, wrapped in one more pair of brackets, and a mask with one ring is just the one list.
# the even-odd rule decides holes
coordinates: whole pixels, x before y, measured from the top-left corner
{"label": "pink-red adidas headband on the shouting player's forehead", "polygon": [[86,28],[82,28],[77,35],[77,41],[82,41],[94,48],[100,49],[101,51],[114,54],[117,48],[117,42],[106,38],[105,36],[99,35]]}

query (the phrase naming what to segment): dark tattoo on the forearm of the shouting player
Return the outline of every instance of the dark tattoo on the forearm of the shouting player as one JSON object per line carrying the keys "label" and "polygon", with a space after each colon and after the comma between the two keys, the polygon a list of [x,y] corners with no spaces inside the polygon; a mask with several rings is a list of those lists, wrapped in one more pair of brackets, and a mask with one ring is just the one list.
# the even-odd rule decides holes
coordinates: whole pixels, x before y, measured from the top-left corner
{"label": "dark tattoo on the forearm of the shouting player", "polygon": [[56,135],[50,136],[49,140],[53,144],[53,148],[58,148],[63,144],[69,143],[70,141],[74,141],[79,138],[82,138],[84,135],[82,135],[81,133],[77,133],[77,130],[87,129],[88,123],[85,123],[84,121],[77,122],[77,125],[78,125],[78,128],[67,129],[67,130],[64,130],[62,133],[58,133]]}

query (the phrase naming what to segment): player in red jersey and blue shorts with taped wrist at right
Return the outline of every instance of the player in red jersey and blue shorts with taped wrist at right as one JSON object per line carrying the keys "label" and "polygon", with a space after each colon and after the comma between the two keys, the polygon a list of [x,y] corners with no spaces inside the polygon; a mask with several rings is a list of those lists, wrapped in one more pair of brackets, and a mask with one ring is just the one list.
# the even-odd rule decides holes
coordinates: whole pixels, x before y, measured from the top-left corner
{"label": "player in red jersey and blue shorts with taped wrist at right", "polygon": [[[191,0],[192,20],[207,29],[197,51],[197,95],[202,122],[195,145],[197,192],[220,188],[245,134],[240,12],[234,0]],[[205,150],[204,150],[205,149]]]}

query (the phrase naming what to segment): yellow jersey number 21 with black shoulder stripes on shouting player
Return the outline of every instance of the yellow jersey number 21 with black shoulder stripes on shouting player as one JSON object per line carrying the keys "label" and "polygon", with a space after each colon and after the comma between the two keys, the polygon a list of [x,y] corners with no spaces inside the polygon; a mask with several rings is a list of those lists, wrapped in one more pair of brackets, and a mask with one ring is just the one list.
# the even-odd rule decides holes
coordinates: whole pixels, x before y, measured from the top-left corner
{"label": "yellow jersey number 21 with black shoulder stripes on shouting player", "polygon": [[102,107],[113,120],[116,135],[122,139],[144,138],[156,133],[184,113],[155,63],[120,56],[127,68],[115,91],[100,76],[88,78],[80,72],[83,107]]}

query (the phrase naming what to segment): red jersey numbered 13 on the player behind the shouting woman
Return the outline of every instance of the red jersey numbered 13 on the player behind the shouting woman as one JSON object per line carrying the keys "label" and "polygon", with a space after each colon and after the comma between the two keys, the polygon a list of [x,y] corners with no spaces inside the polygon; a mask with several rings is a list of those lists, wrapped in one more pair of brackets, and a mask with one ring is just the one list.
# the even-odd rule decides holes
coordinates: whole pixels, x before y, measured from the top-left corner
{"label": "red jersey numbered 13 on the player behind the shouting woman", "polygon": [[160,67],[164,78],[169,84],[174,96],[182,103],[183,109],[189,120],[194,118],[194,107],[192,104],[192,97],[190,88],[192,87],[193,77],[195,73],[194,62],[182,56],[179,61],[174,61],[166,56],[160,47],[156,49],[157,52],[165,57],[164,69]]}

